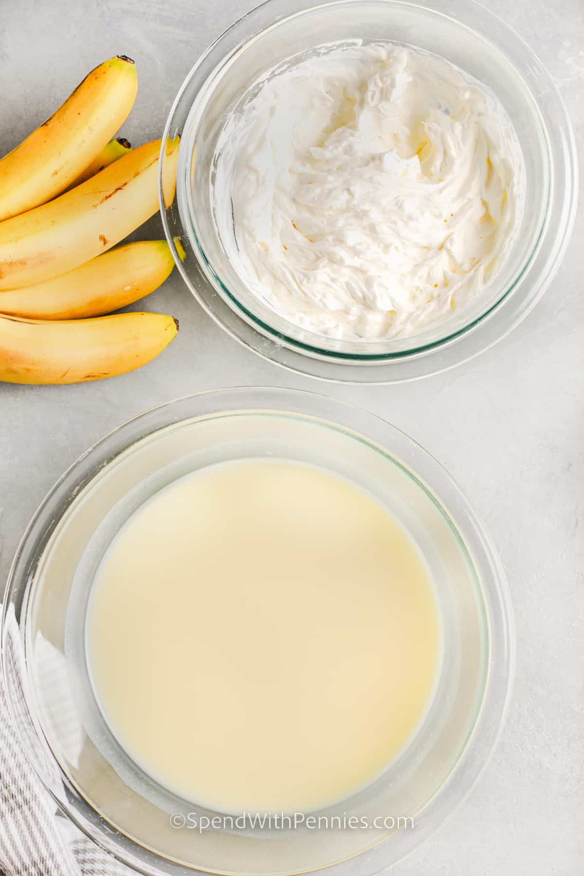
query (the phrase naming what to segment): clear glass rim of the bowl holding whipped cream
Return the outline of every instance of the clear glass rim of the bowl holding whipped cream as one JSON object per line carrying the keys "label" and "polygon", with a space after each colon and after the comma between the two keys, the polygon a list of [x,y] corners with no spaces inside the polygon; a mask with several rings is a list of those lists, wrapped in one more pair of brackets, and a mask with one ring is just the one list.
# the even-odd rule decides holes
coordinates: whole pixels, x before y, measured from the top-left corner
{"label": "clear glass rim of the bowl holding whipped cream", "polygon": [[[327,7],[329,5],[341,6],[354,2],[355,0],[303,0],[301,8],[288,10],[283,20],[285,22],[288,18],[302,15],[315,8]],[[509,285],[503,287],[496,300],[492,301],[489,307],[481,314],[476,315],[466,324],[457,327],[446,336],[427,341],[427,343],[420,343],[408,350],[379,354],[375,352],[359,354],[353,351],[323,350],[318,346],[314,346],[312,342],[304,343],[296,338],[285,335],[280,329],[272,328],[263,318],[251,313],[249,308],[240,302],[234,293],[230,292],[222,282],[222,279],[216,274],[213,265],[208,261],[205,252],[202,250],[196,235],[197,247],[193,246],[193,254],[197,264],[194,265],[192,272],[185,269],[176,238],[179,237],[180,242],[182,242],[183,237],[188,239],[186,222],[192,223],[193,204],[192,198],[189,196],[190,188],[188,180],[181,180],[180,178],[177,180],[177,198],[182,199],[184,195],[187,214],[187,216],[179,215],[178,224],[180,233],[178,235],[173,233],[170,227],[171,222],[169,221],[167,208],[162,199],[161,181],[159,185],[161,216],[166,238],[179,272],[186,282],[186,286],[194,298],[199,301],[201,307],[236,341],[243,343],[244,346],[249,347],[268,361],[296,373],[339,383],[399,383],[425,377],[428,374],[446,371],[456,364],[466,362],[480,352],[489,349],[514,329],[545,293],[547,286],[551,283],[559,267],[561,258],[566,250],[566,245],[569,242],[577,206],[578,165],[572,125],[552,77],[547,73],[538,56],[532,52],[524,39],[519,37],[501,18],[498,18],[494,13],[478,4],[476,0],[421,0],[420,3],[417,0],[377,0],[377,2],[426,9],[444,18],[451,18],[458,25],[474,32],[476,32],[477,22],[474,21],[473,17],[480,15],[482,19],[486,19],[489,25],[486,28],[482,26],[482,39],[490,41],[496,50],[503,54],[503,57],[514,67],[517,75],[524,82],[524,87],[533,97],[535,109],[538,112],[542,140],[545,144],[549,173],[545,215],[538,228],[536,237],[531,241],[529,254],[524,258],[523,263],[517,267],[517,271],[510,279]],[[213,53],[219,54],[223,42],[234,31],[244,27],[247,28],[246,35],[238,41],[236,47],[223,54],[221,59],[216,60],[213,74],[215,76],[218,71],[229,63],[229,60],[237,52],[241,51],[250,41],[255,39],[258,33],[282,23],[280,19],[277,19],[271,25],[261,27],[257,32],[251,30],[250,19],[258,14],[262,14],[268,7],[277,5],[279,8],[286,3],[287,0],[264,0],[263,4],[258,5],[255,9],[230,25],[201,54],[201,57],[187,74],[173,102],[165,125],[163,144],[165,139],[171,136],[172,131],[178,130],[176,114],[179,110],[180,99],[186,92],[186,89],[189,88],[193,78],[198,74],[203,62],[207,61],[208,57]],[[483,24],[484,22],[481,21],[481,25]],[[530,83],[525,80],[522,73],[522,66],[514,62],[515,59],[511,51],[513,48],[516,50],[516,54],[519,53],[523,56],[520,60],[529,61],[530,69],[537,71],[538,77],[545,81],[546,94],[550,95],[547,101],[553,104],[553,109],[559,114],[561,124],[559,124],[558,119],[547,117],[548,114],[543,111],[542,103],[532,94]],[[553,122],[552,126],[550,125],[551,121]],[[550,127],[552,127],[552,131],[549,130]],[[560,145],[558,144],[558,138],[562,139]],[[560,148],[561,146],[563,146],[563,149]],[[570,190],[569,198],[564,197],[562,192],[557,191],[555,170],[560,159],[562,162],[561,169],[566,173],[566,187]],[[162,166],[162,152],[160,165]],[[161,170],[159,177],[160,175]],[[170,209],[168,208],[169,212]],[[180,211],[181,213],[182,211]],[[546,253],[542,258],[541,251],[545,246],[551,247],[552,252]],[[538,268],[535,266],[537,260],[543,261],[543,265],[540,265]],[[193,273],[196,274],[196,278],[193,276]],[[527,283],[527,285],[523,289],[523,296],[519,296],[518,287],[522,283]],[[222,311],[221,314],[215,311],[214,305],[217,303],[217,297],[220,297],[224,304],[224,307],[221,304],[219,305]],[[501,323],[502,320],[504,320],[504,324],[497,327],[496,322]],[[479,336],[481,336],[480,340]],[[268,341],[269,349],[266,348],[266,340]],[[415,338],[413,340],[415,341]]]}

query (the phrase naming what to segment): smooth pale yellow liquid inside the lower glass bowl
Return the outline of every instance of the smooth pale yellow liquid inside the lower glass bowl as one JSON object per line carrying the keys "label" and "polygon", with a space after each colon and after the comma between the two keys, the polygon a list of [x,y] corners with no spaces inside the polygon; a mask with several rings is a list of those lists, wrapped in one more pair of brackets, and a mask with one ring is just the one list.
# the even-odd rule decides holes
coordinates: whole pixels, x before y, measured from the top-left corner
{"label": "smooth pale yellow liquid inside the lower glass bowl", "polygon": [[410,536],[355,484],[284,460],[213,466],[139,508],[102,560],[87,633],[130,757],[231,813],[362,788],[416,731],[440,663]]}

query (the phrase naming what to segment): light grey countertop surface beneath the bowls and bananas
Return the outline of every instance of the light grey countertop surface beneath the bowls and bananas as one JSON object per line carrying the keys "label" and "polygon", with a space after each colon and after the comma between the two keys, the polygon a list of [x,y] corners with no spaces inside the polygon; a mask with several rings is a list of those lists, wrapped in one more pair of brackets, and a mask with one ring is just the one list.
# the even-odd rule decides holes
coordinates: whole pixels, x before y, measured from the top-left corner
{"label": "light grey countertop surface beneath the bowls and bananas", "polygon": [[[253,0],[0,0],[0,154],[95,64],[137,61],[123,134],[160,136],[197,55]],[[556,77],[584,136],[582,0],[492,0]],[[380,414],[467,492],[500,551],[517,619],[517,680],[493,759],[468,800],[392,876],[584,874],[584,216],[545,299],[474,362],[394,387],[297,378],[243,350],[176,272],[146,309],[179,317],[169,350],[133,374],[66,387],[0,385],[0,582],[32,512],[88,446],[144,409],[227,385],[296,386]],[[142,237],[162,237],[158,217]],[[0,592],[2,588],[0,587]]]}

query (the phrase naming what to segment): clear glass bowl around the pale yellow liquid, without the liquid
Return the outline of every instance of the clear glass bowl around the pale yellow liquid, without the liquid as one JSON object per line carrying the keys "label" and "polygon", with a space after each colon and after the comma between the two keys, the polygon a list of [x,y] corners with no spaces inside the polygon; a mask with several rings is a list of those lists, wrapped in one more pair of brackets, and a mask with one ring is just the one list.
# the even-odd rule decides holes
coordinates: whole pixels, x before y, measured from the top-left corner
{"label": "clear glass bowl around the pale yellow liquid, without the liquid", "polygon": [[[315,814],[330,829],[246,822],[197,830],[193,813],[199,823],[216,813],[140,771],[95,702],[84,648],[88,592],[109,541],[155,491],[208,464],[268,456],[351,478],[408,528],[440,604],[440,677],[398,759],[367,788]],[[147,874],[273,876],[333,865],[335,876],[349,876],[394,864],[461,802],[484,767],[509,703],[514,641],[495,550],[440,464],[370,413],[273,388],[179,399],[130,420],[81,456],[18,548],[2,628],[9,707],[41,780],[88,837]],[[351,817],[366,826],[351,829]]]}

